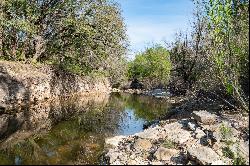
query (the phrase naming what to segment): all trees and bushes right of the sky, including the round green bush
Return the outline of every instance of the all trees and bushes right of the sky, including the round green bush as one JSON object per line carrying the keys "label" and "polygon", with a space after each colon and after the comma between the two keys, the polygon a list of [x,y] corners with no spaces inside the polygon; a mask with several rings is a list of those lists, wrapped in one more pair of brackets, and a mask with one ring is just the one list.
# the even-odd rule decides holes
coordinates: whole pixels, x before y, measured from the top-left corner
{"label": "all trees and bushes right of the sky, including the round green bush", "polygon": [[249,1],[194,4],[191,33],[177,33],[167,49],[154,46],[139,53],[129,64],[129,78],[149,87],[206,90],[232,107],[249,110]]}

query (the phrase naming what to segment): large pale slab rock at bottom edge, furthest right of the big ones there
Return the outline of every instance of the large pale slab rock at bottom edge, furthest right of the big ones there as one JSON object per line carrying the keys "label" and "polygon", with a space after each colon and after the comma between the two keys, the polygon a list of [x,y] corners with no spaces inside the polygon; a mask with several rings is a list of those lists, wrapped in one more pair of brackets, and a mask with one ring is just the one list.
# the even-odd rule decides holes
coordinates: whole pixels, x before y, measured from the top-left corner
{"label": "large pale slab rock at bottom edge, furthest right of the big ones there", "polygon": [[188,157],[199,164],[211,164],[220,160],[215,151],[206,146],[193,145],[187,148]]}

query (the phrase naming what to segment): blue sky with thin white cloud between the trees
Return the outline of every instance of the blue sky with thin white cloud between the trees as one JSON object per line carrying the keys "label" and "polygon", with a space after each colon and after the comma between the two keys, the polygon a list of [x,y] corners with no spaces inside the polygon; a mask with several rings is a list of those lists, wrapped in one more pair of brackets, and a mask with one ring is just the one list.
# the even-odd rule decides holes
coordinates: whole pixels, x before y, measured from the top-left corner
{"label": "blue sky with thin white cloud between the trees", "polygon": [[191,0],[115,0],[120,3],[130,40],[129,58],[152,43],[171,42],[176,32],[190,29]]}

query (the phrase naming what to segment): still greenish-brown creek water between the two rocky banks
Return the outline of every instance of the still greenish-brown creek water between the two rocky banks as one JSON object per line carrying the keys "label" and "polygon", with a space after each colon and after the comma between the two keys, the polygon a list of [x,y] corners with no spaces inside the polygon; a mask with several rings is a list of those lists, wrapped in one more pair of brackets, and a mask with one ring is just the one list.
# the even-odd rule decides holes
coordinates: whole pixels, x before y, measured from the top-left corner
{"label": "still greenish-brown creek water between the two rocky banks", "polygon": [[[100,164],[105,138],[140,132],[171,107],[161,99],[123,93],[113,93],[102,102],[79,103],[74,99],[45,106],[49,118],[34,126],[49,125],[7,146],[2,143],[0,164]],[[41,106],[30,109],[26,111],[44,111]]]}

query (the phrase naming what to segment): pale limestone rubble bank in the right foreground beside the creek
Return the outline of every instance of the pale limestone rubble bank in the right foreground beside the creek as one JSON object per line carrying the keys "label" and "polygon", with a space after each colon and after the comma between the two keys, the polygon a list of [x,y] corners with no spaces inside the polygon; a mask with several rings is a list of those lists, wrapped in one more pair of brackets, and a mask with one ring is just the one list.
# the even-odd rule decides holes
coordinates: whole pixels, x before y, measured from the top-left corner
{"label": "pale limestone rubble bank in the right foreground beside the creek", "polygon": [[162,120],[140,133],[106,139],[104,158],[111,165],[249,164],[249,118],[240,118],[200,110]]}

